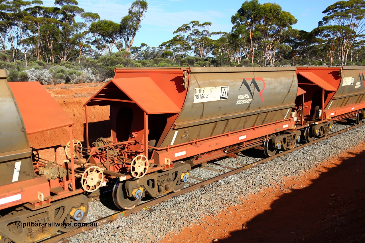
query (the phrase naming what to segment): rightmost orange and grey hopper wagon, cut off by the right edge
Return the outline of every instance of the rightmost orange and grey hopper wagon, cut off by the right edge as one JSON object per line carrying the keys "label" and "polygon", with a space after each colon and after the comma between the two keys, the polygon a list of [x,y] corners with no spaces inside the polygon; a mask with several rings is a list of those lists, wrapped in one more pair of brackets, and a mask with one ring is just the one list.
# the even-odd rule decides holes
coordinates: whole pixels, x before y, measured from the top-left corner
{"label": "rightmost orange and grey hopper wagon, cut off by the right edge", "polygon": [[298,86],[303,90],[296,100],[297,129],[304,138],[325,136],[335,121],[355,117],[364,119],[364,66],[297,67]]}

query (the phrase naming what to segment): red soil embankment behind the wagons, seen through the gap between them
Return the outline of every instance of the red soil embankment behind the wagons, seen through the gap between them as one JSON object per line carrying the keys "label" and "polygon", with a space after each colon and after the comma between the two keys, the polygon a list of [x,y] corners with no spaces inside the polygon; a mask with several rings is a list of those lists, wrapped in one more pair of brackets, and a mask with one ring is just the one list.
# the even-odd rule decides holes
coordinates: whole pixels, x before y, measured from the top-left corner
{"label": "red soil embankment behind the wagons, seen through the gap between them", "polygon": [[[79,140],[86,147],[85,107],[92,95],[101,89],[103,83],[92,84],[60,84],[43,87],[57,101],[62,109],[75,122],[72,126],[73,139]],[[97,138],[110,136],[110,110],[108,106],[88,107],[89,142]],[[43,148],[53,145],[64,145],[70,141],[68,127],[28,135],[31,147]],[[90,144],[91,145],[91,144]],[[57,150],[58,161],[65,159],[64,148]],[[53,149],[40,152],[41,158],[54,160]]]}

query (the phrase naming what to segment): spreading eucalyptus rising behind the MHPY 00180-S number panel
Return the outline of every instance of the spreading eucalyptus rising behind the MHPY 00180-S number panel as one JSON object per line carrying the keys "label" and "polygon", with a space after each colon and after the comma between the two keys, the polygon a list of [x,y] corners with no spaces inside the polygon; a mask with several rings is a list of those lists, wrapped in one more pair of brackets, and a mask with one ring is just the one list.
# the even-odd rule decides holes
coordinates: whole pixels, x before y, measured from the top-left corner
{"label": "spreading eucalyptus rising behind the MHPY 00180-S number panel", "polygon": [[209,32],[211,22],[199,23],[199,21],[192,21],[189,24],[183,24],[178,27],[173,34],[183,36],[184,40],[191,46],[193,53],[199,57],[206,58],[210,55],[212,49],[212,39]]}

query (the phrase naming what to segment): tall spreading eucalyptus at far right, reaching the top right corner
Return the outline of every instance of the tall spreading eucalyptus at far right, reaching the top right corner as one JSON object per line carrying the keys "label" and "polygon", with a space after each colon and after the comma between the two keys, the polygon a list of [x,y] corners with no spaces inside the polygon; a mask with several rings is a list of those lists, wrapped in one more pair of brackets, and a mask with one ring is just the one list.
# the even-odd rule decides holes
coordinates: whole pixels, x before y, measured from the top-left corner
{"label": "tall spreading eucalyptus at far right, reaching the top right corner", "polygon": [[333,26],[334,34],[340,41],[340,58],[342,65],[347,64],[347,56],[353,43],[362,38],[365,32],[365,1],[338,1],[328,6],[322,13],[326,14],[321,26]]}

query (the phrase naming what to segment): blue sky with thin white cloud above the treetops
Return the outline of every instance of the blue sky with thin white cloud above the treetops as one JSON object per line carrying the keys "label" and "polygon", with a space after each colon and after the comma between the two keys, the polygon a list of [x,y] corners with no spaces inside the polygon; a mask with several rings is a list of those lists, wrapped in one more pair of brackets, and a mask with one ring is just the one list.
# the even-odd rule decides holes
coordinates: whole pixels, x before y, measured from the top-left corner
{"label": "blue sky with thin white cloud above the treetops", "polygon": [[[78,6],[85,12],[94,12],[100,19],[119,23],[127,15],[132,0],[77,0]],[[200,23],[211,22],[210,32],[230,32],[231,16],[237,13],[244,0],[146,0],[148,9],[142,19],[142,27],[137,32],[133,46],[146,43],[148,46],[159,46],[173,38],[173,32],[183,24],[197,20]],[[324,11],[336,0],[259,0],[260,3],[276,3],[284,11],[290,12],[298,23],[293,28],[312,31],[318,27]],[[54,0],[43,0],[47,7],[54,5]]]}

